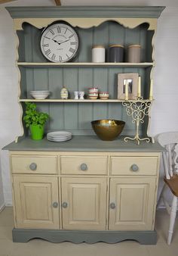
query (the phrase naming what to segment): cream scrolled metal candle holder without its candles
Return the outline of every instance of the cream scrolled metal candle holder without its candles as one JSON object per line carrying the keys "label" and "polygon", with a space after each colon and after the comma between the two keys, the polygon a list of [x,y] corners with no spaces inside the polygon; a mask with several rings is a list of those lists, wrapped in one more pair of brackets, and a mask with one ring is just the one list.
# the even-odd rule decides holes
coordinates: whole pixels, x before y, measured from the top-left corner
{"label": "cream scrolled metal candle holder without its candles", "polygon": [[123,101],[122,105],[126,107],[126,113],[129,117],[132,117],[132,123],[136,123],[136,135],[133,138],[125,137],[124,141],[127,142],[128,139],[136,140],[138,145],[140,145],[140,141],[145,140],[146,142],[150,142],[150,139],[140,138],[139,136],[139,126],[140,123],[144,123],[144,118],[149,116],[149,109],[152,104],[152,101],[143,100],[143,97],[137,97],[136,100],[127,100]]}

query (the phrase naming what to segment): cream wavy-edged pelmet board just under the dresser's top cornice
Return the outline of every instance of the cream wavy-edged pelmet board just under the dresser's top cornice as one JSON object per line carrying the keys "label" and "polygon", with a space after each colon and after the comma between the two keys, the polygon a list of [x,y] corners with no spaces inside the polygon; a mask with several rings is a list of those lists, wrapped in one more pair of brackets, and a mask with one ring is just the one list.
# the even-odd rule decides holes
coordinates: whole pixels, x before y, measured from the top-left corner
{"label": "cream wavy-edged pelmet board just under the dresser's top cornice", "polygon": [[[41,29],[43,27],[47,27],[49,24],[54,21],[60,20],[60,17],[57,18],[15,18],[14,19],[14,29],[15,30],[23,30],[22,24],[27,22],[34,27],[38,27]],[[107,20],[113,20],[123,25],[124,27],[128,27],[133,29],[134,27],[139,26],[142,23],[149,23],[148,30],[155,30],[157,27],[157,18],[119,18],[119,17],[72,17],[72,18],[62,18],[63,21],[68,22],[73,27],[81,27],[84,29],[90,27],[97,27],[101,23]]]}

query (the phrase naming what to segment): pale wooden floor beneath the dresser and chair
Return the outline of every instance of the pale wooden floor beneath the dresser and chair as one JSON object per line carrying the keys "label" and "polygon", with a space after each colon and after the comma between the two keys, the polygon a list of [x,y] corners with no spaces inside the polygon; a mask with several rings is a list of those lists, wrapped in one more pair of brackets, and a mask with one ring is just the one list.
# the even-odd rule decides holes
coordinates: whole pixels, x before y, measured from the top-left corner
{"label": "pale wooden floor beneath the dresser and chair", "polygon": [[13,243],[11,229],[14,226],[12,208],[0,213],[0,256],[176,256],[178,255],[178,218],[176,219],[173,242],[167,245],[168,216],[164,210],[156,214],[157,245],[140,245],[138,242],[125,241],[109,245],[99,242],[94,245],[70,242],[53,244],[34,239],[25,244]]}

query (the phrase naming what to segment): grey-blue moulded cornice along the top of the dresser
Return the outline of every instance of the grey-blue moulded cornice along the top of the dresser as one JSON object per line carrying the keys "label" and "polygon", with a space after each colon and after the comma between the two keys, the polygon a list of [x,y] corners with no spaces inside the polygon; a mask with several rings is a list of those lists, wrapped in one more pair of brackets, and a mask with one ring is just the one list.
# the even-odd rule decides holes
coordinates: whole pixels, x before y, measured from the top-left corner
{"label": "grey-blue moulded cornice along the top of the dresser", "polygon": [[7,7],[11,17],[159,17],[164,6]]}

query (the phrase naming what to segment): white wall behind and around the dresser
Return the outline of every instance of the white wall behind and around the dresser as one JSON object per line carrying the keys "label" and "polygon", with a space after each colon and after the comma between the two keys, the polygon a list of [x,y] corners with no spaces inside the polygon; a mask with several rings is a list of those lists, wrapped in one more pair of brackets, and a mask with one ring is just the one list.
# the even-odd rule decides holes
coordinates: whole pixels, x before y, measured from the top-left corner
{"label": "white wall behind and around the dresser", "polygon": [[[177,0],[62,0],[63,5],[164,5],[166,9],[158,19],[155,38],[154,94],[152,107],[152,136],[178,130],[178,1]],[[6,5],[54,5],[53,0],[19,0]],[[17,104],[17,69],[13,23],[4,5],[0,8],[0,148],[20,134],[20,109]],[[11,204],[11,182],[8,152],[1,151],[2,179],[5,203]],[[161,176],[162,176],[161,172]],[[161,184],[160,184],[161,187]],[[1,189],[1,186],[0,186]],[[1,197],[1,190],[0,190]]]}

